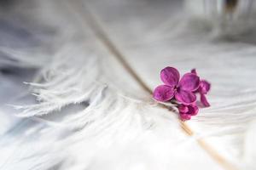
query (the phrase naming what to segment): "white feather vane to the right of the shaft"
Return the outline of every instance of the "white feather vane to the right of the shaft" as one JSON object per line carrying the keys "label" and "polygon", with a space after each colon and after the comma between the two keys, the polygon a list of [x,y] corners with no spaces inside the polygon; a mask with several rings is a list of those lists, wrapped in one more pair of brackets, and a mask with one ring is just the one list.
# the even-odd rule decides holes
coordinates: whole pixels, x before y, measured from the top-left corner
{"label": "white feather vane to the right of the shaft", "polygon": [[[86,5],[88,3],[84,3]],[[182,4],[110,0],[108,3],[92,2],[88,8],[150,88],[160,83],[155,77],[159,77],[160,69],[166,65],[183,72],[197,68],[202,78],[210,80],[212,106],[202,109],[189,126],[238,168],[253,169],[253,162],[247,164],[242,160],[246,157],[243,150],[247,139],[244,135],[256,116],[256,82],[252,79],[256,69],[253,56],[256,48],[252,41],[255,24],[250,23],[248,35],[241,34],[241,30],[248,30],[247,22],[243,20],[231,29],[233,32],[221,32],[218,26],[214,26],[213,18],[213,25],[208,20],[193,19],[185,15],[186,11],[177,11],[180,9],[178,5]],[[118,17],[114,17],[116,14]],[[109,16],[114,19],[109,21]]]}

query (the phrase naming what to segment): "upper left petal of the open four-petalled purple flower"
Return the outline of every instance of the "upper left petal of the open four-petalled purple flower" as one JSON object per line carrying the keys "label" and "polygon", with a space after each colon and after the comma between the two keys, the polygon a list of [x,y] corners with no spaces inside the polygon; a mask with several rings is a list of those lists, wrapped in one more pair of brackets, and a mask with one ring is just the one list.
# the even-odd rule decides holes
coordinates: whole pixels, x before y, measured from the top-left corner
{"label": "upper left petal of the open four-petalled purple flower", "polygon": [[170,86],[177,86],[179,80],[179,73],[176,68],[166,67],[160,72],[161,80]]}

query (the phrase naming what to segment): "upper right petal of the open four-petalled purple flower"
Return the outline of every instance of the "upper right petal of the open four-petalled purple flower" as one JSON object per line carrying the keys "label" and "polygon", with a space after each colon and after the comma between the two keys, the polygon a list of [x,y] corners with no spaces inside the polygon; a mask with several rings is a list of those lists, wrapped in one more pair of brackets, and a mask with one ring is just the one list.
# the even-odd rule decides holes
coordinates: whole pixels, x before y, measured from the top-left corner
{"label": "upper right petal of the open four-petalled purple flower", "polygon": [[193,73],[186,73],[181,78],[178,86],[186,91],[195,91],[199,87],[200,79]]}

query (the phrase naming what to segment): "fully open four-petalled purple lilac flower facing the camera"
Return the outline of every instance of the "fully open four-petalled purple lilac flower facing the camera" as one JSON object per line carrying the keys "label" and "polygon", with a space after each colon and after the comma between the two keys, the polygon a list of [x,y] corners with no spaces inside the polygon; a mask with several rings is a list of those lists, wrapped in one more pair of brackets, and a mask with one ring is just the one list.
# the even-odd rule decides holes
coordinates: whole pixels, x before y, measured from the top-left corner
{"label": "fully open four-petalled purple lilac flower facing the camera", "polygon": [[199,88],[200,78],[195,73],[186,73],[180,80],[179,77],[179,72],[173,67],[160,71],[160,78],[165,84],[154,89],[154,99],[165,102],[175,97],[185,105],[195,102],[196,96],[193,92]]}

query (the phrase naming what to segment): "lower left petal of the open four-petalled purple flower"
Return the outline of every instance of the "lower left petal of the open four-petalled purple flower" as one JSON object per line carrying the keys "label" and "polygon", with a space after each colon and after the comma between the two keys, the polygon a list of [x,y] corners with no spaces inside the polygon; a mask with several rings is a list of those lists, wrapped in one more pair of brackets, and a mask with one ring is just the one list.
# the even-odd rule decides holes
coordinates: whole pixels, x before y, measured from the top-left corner
{"label": "lower left petal of the open four-petalled purple flower", "polygon": [[154,89],[153,97],[158,101],[168,101],[174,96],[174,89],[171,86],[160,85]]}

